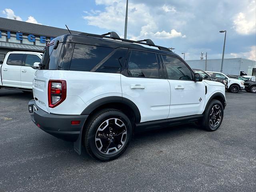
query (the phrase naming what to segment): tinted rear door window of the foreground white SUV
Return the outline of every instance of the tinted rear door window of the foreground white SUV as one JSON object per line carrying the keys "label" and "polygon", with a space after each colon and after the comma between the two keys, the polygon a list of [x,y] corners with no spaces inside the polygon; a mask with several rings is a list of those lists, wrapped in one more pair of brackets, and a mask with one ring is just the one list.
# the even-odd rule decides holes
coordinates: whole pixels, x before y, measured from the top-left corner
{"label": "tinted rear door window of the foreground white SUV", "polygon": [[156,54],[133,50],[128,62],[128,74],[132,77],[159,78]]}

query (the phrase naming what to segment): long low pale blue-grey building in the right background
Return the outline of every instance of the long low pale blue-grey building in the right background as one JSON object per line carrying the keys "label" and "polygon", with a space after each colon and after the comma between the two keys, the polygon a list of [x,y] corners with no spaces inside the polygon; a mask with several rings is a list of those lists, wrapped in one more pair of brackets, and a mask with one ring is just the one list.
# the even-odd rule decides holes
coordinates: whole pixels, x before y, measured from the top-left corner
{"label": "long low pale blue-grey building in the right background", "polygon": [[[191,68],[206,71],[220,72],[221,59],[206,60],[186,60]],[[227,58],[223,60],[223,73],[230,75],[240,75],[240,71],[248,75],[256,76],[256,62],[245,58]]]}

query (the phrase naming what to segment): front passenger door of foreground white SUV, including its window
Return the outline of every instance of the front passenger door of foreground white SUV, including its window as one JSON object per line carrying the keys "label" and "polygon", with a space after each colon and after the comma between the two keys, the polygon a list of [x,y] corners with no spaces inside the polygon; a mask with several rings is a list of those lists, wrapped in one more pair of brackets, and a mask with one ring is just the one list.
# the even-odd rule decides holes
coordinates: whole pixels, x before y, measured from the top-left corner
{"label": "front passenger door of foreground white SUV, including its window", "polygon": [[180,58],[161,56],[165,76],[170,83],[171,102],[168,118],[202,114],[205,85],[194,81],[194,73]]}

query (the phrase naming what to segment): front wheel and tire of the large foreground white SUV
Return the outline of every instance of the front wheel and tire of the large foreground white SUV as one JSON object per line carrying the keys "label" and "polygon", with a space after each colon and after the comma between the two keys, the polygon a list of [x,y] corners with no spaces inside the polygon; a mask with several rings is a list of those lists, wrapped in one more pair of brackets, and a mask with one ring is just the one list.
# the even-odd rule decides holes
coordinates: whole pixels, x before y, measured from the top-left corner
{"label": "front wheel and tire of the large foreground white SUV", "polygon": [[[201,122],[202,127],[207,131],[217,130],[222,123],[223,112],[224,109],[222,103],[219,100],[213,99],[206,107],[204,118]],[[214,113],[216,115],[214,115]],[[217,121],[218,124],[216,124]]]}

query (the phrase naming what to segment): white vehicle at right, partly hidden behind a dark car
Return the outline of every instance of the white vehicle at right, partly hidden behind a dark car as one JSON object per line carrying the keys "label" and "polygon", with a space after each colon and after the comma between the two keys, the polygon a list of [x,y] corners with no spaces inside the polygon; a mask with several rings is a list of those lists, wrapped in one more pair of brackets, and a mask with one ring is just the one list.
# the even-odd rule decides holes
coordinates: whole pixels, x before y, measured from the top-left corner
{"label": "white vehicle at right, partly hidden behind a dark car", "polygon": [[244,90],[245,86],[244,86],[243,80],[229,78],[228,76],[226,76],[225,74],[223,74],[221,72],[212,72],[212,71],[206,71],[206,72],[214,77],[218,77],[218,78],[227,80],[228,81],[228,91],[230,91],[232,93],[237,93],[240,90]]}

